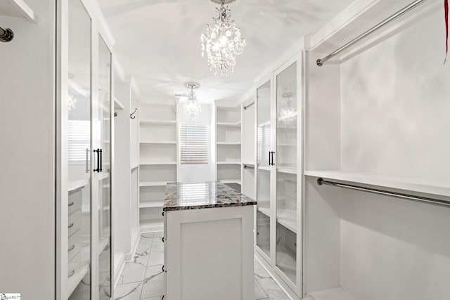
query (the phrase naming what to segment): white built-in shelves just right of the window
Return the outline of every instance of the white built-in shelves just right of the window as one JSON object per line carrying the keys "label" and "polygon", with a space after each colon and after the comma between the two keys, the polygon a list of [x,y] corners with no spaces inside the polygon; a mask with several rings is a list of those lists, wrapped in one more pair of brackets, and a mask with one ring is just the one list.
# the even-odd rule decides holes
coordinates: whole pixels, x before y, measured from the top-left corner
{"label": "white built-in shelves just right of the window", "polygon": [[241,106],[216,105],[217,181],[241,190]]}

